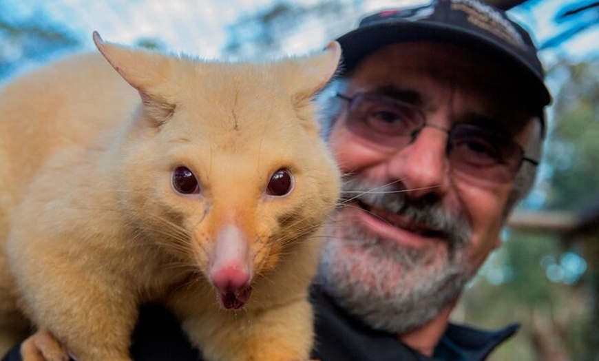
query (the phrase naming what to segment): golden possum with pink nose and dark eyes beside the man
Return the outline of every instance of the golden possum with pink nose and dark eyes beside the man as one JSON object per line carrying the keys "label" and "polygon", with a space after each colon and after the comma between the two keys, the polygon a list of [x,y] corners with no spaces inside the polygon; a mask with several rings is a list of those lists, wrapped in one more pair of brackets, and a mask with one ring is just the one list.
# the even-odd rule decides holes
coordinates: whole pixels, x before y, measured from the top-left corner
{"label": "golden possum with pink nose and dark eyes beside the man", "polygon": [[312,98],[339,45],[220,63],[94,42],[0,92],[3,334],[22,311],[78,360],[130,360],[160,301],[206,360],[308,358],[339,193]]}

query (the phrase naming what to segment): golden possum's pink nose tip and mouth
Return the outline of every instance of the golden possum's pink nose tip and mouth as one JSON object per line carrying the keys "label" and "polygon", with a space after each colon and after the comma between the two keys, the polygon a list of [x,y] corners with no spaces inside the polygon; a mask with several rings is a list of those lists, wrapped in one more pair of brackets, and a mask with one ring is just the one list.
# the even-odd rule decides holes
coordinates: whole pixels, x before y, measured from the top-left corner
{"label": "golden possum's pink nose tip and mouth", "polygon": [[219,269],[210,275],[212,285],[218,290],[218,300],[224,309],[239,309],[249,300],[251,287],[249,274],[233,267]]}

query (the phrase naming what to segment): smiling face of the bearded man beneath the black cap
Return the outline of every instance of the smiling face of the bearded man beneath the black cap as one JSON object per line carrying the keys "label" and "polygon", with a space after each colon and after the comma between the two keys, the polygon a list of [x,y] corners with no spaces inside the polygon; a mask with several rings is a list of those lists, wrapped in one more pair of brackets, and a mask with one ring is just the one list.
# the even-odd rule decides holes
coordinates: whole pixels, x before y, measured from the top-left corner
{"label": "smiling face of the bearded man beneath the black cap", "polygon": [[344,107],[329,141],[346,174],[346,207],[328,229],[319,278],[373,327],[403,332],[453,302],[500,245],[514,185],[452,166],[447,131],[472,123],[524,146],[535,127],[507,74],[452,45],[401,43],[375,52],[343,90],[349,98],[364,92],[409,103],[427,126],[411,143],[388,147],[348,126]]}

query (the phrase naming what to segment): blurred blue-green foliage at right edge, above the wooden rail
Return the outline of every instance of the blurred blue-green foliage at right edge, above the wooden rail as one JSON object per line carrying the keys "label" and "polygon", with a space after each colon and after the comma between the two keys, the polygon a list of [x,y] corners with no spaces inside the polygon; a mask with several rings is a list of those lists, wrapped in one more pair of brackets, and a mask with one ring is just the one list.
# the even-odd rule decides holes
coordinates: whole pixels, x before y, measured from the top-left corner
{"label": "blurred blue-green foliage at right edge, above the wooden rail", "polygon": [[556,65],[568,81],[556,94],[545,148],[551,167],[546,209],[577,211],[599,196],[599,61]]}

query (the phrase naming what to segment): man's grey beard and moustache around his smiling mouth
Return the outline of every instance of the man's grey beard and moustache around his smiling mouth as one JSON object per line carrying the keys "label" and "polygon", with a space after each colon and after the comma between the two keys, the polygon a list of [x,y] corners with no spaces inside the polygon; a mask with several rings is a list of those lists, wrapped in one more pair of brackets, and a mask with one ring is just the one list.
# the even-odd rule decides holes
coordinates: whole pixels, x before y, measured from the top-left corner
{"label": "man's grey beard and moustache around his smiling mouth", "polygon": [[[356,181],[346,187],[354,194],[355,190],[367,192],[359,190],[366,187]],[[327,229],[316,280],[373,329],[404,333],[437,316],[458,298],[474,275],[465,259],[470,228],[440,204],[410,203],[401,192],[390,192],[388,187],[377,191],[361,198],[442,229],[449,238],[446,251],[400,245],[335,216]]]}

